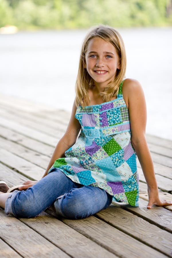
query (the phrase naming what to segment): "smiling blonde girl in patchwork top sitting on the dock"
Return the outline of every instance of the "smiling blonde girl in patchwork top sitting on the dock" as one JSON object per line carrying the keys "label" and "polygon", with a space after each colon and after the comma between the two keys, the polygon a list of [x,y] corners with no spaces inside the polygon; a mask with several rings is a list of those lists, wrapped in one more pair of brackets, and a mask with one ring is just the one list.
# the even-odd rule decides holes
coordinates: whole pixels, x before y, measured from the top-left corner
{"label": "smiling blonde girl in patchwork top sitting on the dock", "polygon": [[60,216],[80,219],[112,200],[138,206],[136,154],[148,186],[147,208],[172,204],[159,198],[145,139],[144,93],[138,81],[124,80],[125,72],[120,34],[109,26],[93,28],[81,49],[67,130],[40,181],[19,187],[26,191],[1,193],[6,214],[30,218],[53,206]]}

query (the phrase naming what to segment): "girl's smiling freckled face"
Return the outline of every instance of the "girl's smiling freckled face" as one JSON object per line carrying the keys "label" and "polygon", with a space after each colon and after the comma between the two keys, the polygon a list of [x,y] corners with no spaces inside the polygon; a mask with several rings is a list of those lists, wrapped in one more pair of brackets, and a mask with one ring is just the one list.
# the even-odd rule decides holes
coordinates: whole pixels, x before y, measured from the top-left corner
{"label": "girl's smiling freckled face", "polygon": [[116,70],[120,69],[120,58],[116,48],[102,38],[96,37],[89,41],[85,54],[87,72],[96,86],[103,88],[113,81]]}

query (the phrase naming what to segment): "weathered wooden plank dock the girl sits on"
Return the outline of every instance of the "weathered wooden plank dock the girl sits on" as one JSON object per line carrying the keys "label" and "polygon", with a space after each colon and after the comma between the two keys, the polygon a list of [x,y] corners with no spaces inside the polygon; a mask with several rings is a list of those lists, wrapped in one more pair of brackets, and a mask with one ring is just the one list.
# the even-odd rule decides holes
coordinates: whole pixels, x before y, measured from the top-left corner
{"label": "weathered wooden plank dock the girl sits on", "polygon": [[[0,180],[11,187],[39,180],[70,114],[0,95]],[[172,141],[147,135],[162,199],[172,200]],[[140,206],[113,203],[82,220],[50,210],[17,219],[0,210],[0,257],[172,257],[172,206],[148,210],[138,163]]]}

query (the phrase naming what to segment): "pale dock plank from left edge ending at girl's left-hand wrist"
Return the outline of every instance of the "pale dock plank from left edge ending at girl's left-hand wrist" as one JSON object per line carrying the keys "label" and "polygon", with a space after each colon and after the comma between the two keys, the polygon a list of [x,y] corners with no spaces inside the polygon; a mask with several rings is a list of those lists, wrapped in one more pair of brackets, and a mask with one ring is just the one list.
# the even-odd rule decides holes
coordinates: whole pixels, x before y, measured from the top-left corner
{"label": "pale dock plank from left edge ending at girl's left-hand wrist", "polygon": [[11,169],[19,171],[23,175],[27,175],[31,180],[39,180],[42,178],[45,170],[12,154],[7,150],[0,149],[0,161]]}

